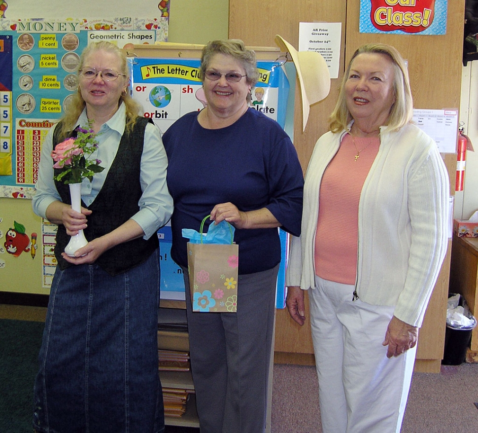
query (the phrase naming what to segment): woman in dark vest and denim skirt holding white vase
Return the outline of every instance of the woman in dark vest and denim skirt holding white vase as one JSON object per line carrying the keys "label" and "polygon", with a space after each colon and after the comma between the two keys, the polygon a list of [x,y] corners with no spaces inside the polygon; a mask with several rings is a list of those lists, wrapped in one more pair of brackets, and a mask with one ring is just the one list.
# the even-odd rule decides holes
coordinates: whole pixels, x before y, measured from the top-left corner
{"label": "woman in dark vest and denim skirt holding white vase", "polygon": [[[36,432],[164,432],[158,376],[157,229],[172,213],[159,129],[127,92],[123,52],[88,45],[79,88],[42,144],[34,212],[58,224],[58,261],[34,387]],[[104,170],[81,185],[81,212],[53,177],[53,148],[77,126],[97,134]],[[69,237],[88,240],[74,256]]]}

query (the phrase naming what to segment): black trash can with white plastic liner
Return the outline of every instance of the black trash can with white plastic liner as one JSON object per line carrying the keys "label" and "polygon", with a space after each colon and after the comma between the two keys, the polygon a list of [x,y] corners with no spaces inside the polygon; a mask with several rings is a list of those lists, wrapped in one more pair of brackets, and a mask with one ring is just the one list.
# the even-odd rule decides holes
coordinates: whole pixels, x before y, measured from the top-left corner
{"label": "black trash can with white plastic liner", "polygon": [[465,299],[450,293],[446,310],[445,344],[442,364],[459,365],[465,361],[472,331],[477,320],[471,314]]}

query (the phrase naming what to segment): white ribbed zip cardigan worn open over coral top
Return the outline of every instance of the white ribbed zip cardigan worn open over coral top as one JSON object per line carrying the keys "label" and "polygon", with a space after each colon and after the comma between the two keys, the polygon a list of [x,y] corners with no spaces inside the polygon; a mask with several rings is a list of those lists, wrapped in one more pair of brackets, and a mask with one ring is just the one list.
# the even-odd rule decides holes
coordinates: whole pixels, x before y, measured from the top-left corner
{"label": "white ribbed zip cardigan worn open over coral top", "polygon": [[[320,182],[344,134],[328,132],[315,144],[304,185],[302,235],[292,239],[287,286],[315,289]],[[435,142],[412,124],[398,132],[382,127],[358,209],[355,289],[362,301],[395,306],[398,319],[421,326],[447,249],[448,195],[448,174]]]}

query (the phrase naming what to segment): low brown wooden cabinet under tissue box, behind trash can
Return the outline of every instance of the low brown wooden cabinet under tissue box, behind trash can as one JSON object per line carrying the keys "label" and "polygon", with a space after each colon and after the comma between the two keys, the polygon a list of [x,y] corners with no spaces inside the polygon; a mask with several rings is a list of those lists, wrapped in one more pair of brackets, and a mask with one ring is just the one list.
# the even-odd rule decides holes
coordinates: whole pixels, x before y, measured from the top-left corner
{"label": "low brown wooden cabinet under tissue box, behind trash can", "polygon": [[[450,267],[450,292],[460,293],[470,311],[478,315],[478,238],[453,235]],[[478,327],[472,331],[468,362],[478,362]]]}

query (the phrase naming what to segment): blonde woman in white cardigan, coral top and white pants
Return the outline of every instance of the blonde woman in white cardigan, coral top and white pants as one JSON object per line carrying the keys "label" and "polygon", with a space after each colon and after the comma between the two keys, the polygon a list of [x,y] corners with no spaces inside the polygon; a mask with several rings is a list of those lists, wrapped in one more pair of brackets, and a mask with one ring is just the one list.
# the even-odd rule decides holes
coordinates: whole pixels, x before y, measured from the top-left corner
{"label": "blonde woman in white cardigan, coral top and white pants", "polygon": [[418,328],[446,253],[449,193],[412,107],[400,53],[360,47],[307,168],[287,307],[303,325],[311,289],[324,433],[400,432]]}

